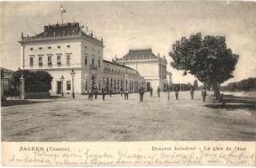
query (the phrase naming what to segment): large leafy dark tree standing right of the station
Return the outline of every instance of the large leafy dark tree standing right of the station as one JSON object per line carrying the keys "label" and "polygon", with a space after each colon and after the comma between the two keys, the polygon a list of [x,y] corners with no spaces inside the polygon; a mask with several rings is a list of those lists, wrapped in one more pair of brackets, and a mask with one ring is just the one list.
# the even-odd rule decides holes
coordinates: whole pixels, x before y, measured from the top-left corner
{"label": "large leafy dark tree standing right of the station", "polygon": [[233,77],[239,57],[227,48],[225,36],[206,35],[203,38],[200,33],[192,34],[176,41],[172,47],[171,66],[184,71],[184,76],[194,75],[205,87],[212,85],[218,99],[220,84]]}

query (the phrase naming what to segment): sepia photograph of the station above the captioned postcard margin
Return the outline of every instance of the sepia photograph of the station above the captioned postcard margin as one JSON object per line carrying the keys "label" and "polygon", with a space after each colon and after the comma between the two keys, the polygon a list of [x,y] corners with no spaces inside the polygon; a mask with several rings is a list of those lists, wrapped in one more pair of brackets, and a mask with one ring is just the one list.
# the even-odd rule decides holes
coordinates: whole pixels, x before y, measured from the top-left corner
{"label": "sepia photograph of the station above the captioned postcard margin", "polygon": [[2,142],[255,142],[255,2],[0,4]]}

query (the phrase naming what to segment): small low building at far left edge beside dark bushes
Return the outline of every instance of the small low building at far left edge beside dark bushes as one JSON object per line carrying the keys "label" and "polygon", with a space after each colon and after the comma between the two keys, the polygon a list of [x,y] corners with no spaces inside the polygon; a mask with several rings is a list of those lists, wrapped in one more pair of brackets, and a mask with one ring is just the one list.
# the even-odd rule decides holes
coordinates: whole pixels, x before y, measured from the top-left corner
{"label": "small low building at far left edge beside dark bushes", "polygon": [[1,97],[7,96],[14,71],[1,68]]}

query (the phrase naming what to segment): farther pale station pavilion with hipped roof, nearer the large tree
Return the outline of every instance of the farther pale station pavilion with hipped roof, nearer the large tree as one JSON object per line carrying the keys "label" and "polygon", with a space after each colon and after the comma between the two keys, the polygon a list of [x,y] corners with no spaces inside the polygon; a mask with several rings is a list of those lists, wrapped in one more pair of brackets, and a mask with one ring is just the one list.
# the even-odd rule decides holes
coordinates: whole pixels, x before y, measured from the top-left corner
{"label": "farther pale station pavilion with hipped roof, nearer the large tree", "polygon": [[166,71],[167,60],[164,56],[161,58],[160,55],[153,54],[152,49],[129,50],[125,56],[115,61],[138,71],[154,91],[157,87],[160,87],[161,91],[166,91],[168,81],[172,81],[171,73],[167,74]]}

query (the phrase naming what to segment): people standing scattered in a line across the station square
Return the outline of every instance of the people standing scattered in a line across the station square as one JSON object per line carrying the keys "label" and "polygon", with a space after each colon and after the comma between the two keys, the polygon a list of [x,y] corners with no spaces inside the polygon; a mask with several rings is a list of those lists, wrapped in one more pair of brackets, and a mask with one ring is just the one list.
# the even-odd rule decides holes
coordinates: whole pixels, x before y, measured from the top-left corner
{"label": "people standing scattered in a line across the station square", "polygon": [[[160,87],[157,87],[157,97],[160,97]],[[176,100],[179,99],[179,89],[178,87],[174,87],[173,91],[175,92],[175,97],[176,97]],[[140,95],[140,102],[143,102],[143,97],[144,97],[144,93],[146,91],[144,90],[144,88],[140,87],[139,88],[139,95]],[[152,97],[152,94],[153,94],[153,89],[152,87],[149,88],[149,92],[150,92],[150,97]],[[194,92],[195,92],[195,88],[194,87],[191,87],[190,88],[190,96],[191,96],[191,99],[193,100],[194,99]],[[105,88],[102,88],[101,89],[101,93],[102,93],[102,99],[103,101],[105,100],[105,95],[106,95],[106,89]],[[123,93],[125,94],[125,100],[128,100],[128,95],[129,95],[129,90],[126,88],[125,89],[125,92],[121,89],[120,91],[121,93],[121,96],[123,96]],[[98,90],[89,90],[88,92],[88,100],[93,100],[93,95],[95,96],[95,99],[97,99],[97,96],[99,94],[99,91]],[[203,98],[203,102],[205,102],[205,98],[207,96],[207,91],[206,91],[206,88],[204,87],[201,91],[201,96]],[[109,92],[109,97],[111,97],[111,92]],[[170,90],[168,90],[168,101],[170,100]]]}

